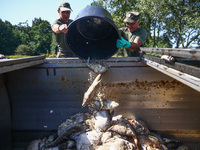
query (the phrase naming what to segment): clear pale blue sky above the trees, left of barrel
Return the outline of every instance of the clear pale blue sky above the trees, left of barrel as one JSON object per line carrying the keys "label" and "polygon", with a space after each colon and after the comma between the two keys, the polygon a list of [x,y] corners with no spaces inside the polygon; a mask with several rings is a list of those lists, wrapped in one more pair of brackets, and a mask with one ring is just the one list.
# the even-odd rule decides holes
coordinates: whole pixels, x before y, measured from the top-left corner
{"label": "clear pale blue sky above the trees, left of barrel", "polygon": [[[53,23],[59,18],[58,4],[63,0],[0,0],[0,19],[9,21],[12,25],[28,20],[32,25],[34,18],[41,18]],[[93,0],[67,0],[72,12],[70,19],[75,19],[78,13],[90,5]]]}

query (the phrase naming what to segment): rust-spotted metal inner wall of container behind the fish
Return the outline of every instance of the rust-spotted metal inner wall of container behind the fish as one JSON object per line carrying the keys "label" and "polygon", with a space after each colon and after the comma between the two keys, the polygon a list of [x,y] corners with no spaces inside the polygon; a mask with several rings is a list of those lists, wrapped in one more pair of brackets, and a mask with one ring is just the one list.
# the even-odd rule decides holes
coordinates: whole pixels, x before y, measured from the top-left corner
{"label": "rust-spotted metal inner wall of container behind the fish", "polygon": [[[138,60],[110,59],[107,64],[111,67],[101,90],[105,98],[120,103],[115,115],[141,119],[151,130],[200,148],[199,92]],[[14,145],[28,142],[27,135],[31,140],[57,130],[68,116],[87,112],[81,104],[88,73],[85,63],[75,59],[48,59],[8,73]]]}

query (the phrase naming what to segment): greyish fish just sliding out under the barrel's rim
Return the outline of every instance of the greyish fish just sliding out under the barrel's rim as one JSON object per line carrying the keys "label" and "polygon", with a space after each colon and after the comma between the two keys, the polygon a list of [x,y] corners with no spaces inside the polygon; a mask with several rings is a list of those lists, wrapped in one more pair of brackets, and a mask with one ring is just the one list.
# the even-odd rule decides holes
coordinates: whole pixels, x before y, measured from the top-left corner
{"label": "greyish fish just sliding out under the barrel's rim", "polygon": [[106,66],[105,64],[100,63],[100,62],[98,63],[95,61],[90,62],[90,58],[88,58],[86,65],[88,66],[90,70],[92,70],[96,74],[102,74],[106,72],[109,68],[109,66]]}

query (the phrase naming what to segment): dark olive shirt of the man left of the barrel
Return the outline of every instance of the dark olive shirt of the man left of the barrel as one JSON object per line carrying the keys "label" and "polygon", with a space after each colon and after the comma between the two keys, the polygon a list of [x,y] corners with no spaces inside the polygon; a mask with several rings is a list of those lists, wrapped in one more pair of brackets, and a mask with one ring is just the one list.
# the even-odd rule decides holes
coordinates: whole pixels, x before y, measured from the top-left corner
{"label": "dark olive shirt of the man left of the barrel", "polygon": [[[54,24],[59,24],[59,25],[62,25],[62,24],[67,24],[69,25],[73,20],[69,19],[68,22],[63,22],[62,20],[60,19],[57,19],[55,20],[51,26],[53,26]],[[59,51],[61,52],[68,52],[70,50],[70,48],[65,44],[65,34],[63,32],[61,33],[54,33],[55,35],[55,38],[56,38],[56,42],[58,44],[58,48],[59,48]]]}

